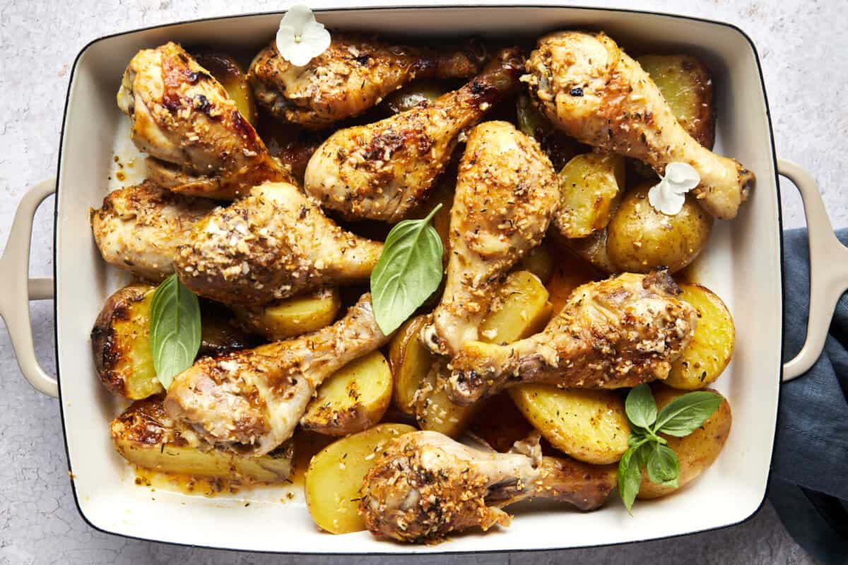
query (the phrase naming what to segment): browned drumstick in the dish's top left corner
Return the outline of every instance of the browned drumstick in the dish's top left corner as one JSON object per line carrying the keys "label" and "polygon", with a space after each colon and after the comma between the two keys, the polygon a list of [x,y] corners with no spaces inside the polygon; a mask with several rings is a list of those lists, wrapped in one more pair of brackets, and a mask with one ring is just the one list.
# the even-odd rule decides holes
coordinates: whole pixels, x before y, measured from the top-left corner
{"label": "browned drumstick in the dish's top left corner", "polygon": [[232,199],[263,180],[289,178],[224,87],[176,43],[132,58],[118,107],[150,156],[148,178],[173,191]]}

